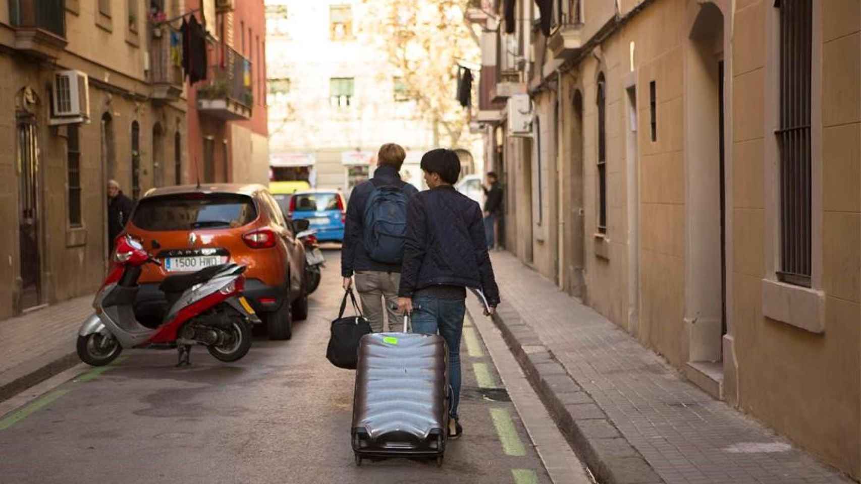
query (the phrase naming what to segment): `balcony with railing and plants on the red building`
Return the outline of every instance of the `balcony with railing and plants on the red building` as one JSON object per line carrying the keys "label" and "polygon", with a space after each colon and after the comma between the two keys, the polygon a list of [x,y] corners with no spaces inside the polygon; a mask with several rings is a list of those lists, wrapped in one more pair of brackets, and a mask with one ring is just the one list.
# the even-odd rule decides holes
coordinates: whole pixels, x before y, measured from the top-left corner
{"label": "balcony with railing and plants on the red building", "polygon": [[220,119],[250,119],[254,105],[251,61],[228,46],[215,49],[207,80],[197,86],[197,110]]}

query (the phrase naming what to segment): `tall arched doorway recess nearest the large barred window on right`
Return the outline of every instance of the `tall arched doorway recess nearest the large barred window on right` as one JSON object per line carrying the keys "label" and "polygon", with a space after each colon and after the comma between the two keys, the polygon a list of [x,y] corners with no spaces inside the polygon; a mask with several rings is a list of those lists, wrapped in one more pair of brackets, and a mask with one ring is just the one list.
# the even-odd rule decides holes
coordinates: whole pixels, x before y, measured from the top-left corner
{"label": "tall arched doorway recess nearest the large barred window on right", "polygon": [[[726,334],[723,25],[715,3],[698,9],[685,49],[685,302],[689,360],[722,371]],[[693,15],[693,14],[692,14]]]}

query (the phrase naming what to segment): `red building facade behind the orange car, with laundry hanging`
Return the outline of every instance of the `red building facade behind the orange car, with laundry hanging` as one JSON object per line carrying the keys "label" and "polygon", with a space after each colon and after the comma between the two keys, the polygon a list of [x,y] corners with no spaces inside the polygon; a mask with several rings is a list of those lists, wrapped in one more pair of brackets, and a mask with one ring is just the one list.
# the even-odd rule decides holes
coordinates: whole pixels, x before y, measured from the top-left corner
{"label": "red building facade behind the orange car, with laundry hanging", "polygon": [[[263,0],[185,0],[203,24],[206,79],[188,84],[189,181],[266,183],[266,19]],[[176,25],[176,23],[175,23]]]}

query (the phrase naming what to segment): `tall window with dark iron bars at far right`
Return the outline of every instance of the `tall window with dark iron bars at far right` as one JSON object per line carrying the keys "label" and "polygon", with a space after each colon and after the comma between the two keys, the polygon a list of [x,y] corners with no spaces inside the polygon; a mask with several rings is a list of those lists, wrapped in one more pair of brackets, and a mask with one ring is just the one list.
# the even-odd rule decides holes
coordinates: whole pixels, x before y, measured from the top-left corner
{"label": "tall window with dark iron bars at far right", "polygon": [[810,286],[810,81],[812,0],[777,0],[780,9],[780,271]]}

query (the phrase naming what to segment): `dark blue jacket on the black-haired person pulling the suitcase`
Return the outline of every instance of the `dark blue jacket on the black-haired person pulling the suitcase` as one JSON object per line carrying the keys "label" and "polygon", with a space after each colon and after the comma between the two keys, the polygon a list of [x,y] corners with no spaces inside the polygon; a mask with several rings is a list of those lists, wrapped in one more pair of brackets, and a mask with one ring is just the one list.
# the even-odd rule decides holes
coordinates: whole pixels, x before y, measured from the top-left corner
{"label": "dark blue jacket on the black-haired person pulling the suitcase", "polygon": [[480,289],[492,306],[499,288],[487,254],[479,204],[446,185],[419,192],[406,207],[400,297],[431,285]]}

